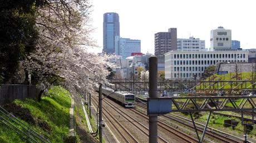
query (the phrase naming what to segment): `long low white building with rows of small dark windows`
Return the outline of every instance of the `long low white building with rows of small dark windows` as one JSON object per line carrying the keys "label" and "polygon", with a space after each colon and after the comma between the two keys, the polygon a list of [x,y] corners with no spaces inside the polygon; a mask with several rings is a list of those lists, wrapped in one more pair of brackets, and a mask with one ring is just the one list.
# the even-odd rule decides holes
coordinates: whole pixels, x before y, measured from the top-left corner
{"label": "long low white building with rows of small dark windows", "polygon": [[185,51],[172,50],[165,54],[165,78],[201,77],[205,68],[218,62],[248,62],[248,51]]}

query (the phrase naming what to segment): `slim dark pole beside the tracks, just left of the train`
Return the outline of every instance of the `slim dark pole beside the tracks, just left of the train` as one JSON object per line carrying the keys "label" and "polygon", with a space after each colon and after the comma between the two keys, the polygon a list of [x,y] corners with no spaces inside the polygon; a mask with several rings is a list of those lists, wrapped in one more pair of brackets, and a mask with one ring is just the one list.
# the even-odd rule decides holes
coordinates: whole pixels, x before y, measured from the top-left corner
{"label": "slim dark pole beside the tracks, just left of the train", "polygon": [[102,84],[99,89],[99,124],[100,143],[102,143]]}

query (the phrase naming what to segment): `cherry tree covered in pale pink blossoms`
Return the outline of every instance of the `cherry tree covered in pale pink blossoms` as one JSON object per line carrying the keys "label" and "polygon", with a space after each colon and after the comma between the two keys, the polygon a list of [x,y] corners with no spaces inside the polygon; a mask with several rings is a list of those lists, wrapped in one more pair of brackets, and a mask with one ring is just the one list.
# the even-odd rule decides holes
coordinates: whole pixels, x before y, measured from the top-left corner
{"label": "cherry tree covered in pale pink blossoms", "polygon": [[87,0],[48,0],[37,9],[36,52],[22,63],[42,89],[58,83],[81,93],[108,84],[107,67],[112,67],[113,57],[86,52],[96,46],[90,36],[90,7]]}

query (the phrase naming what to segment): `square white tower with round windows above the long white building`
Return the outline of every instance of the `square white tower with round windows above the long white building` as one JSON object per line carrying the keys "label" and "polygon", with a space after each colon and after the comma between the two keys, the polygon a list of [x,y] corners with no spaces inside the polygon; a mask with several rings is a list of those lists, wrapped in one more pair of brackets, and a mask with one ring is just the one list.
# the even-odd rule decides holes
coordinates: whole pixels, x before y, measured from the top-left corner
{"label": "square white tower with round windows above the long white building", "polygon": [[210,50],[231,50],[231,30],[218,27],[211,30],[210,33]]}

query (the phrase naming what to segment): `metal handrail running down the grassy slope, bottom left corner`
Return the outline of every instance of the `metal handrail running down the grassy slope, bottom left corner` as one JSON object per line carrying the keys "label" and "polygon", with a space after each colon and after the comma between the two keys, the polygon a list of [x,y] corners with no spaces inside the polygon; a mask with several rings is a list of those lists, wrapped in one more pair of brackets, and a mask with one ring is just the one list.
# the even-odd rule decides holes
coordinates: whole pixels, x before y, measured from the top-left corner
{"label": "metal handrail running down the grassy slope, bottom left corner", "polygon": [[[14,115],[12,115],[11,113],[9,113],[7,110],[5,110],[4,108],[2,108],[2,106],[0,106],[0,112],[3,114],[3,115],[5,115],[5,116],[7,116],[7,118],[9,118],[9,119],[11,119],[13,122],[15,122],[16,124],[18,124],[19,126],[21,126],[22,127],[22,129],[24,129],[26,132],[27,132],[27,134],[26,133],[24,133],[23,131],[22,131],[22,133],[23,134],[25,134],[25,135],[29,135],[29,138],[31,138],[32,140],[34,140],[35,142],[37,142],[35,139],[33,139],[33,137],[31,137],[31,135],[32,136],[34,136],[34,137],[36,137],[37,139],[39,139],[40,141],[42,141],[42,142],[50,142],[50,141],[48,141],[47,139],[45,139],[45,137],[43,137],[42,135],[40,135],[40,134],[38,134],[36,131],[34,131],[33,129],[31,129],[30,127],[28,127],[27,125],[25,125],[25,124],[23,124],[23,122],[21,122],[19,119],[17,119]],[[0,116],[1,117],[1,116]],[[5,121],[7,121],[6,119],[4,119],[3,117],[1,117],[3,120],[5,120]],[[3,122],[3,121],[2,121]],[[11,124],[9,121],[7,121],[9,124]],[[4,123],[4,124],[6,124],[6,123]],[[12,124],[11,124],[12,125]],[[8,126],[8,125],[7,125]],[[12,126],[14,126],[14,125],[12,125]],[[16,127],[16,126],[14,126],[14,127]],[[12,128],[11,128],[12,129]],[[16,127],[16,129],[17,129],[17,127]],[[12,129],[13,130],[13,129]],[[19,129],[18,129],[19,130]],[[15,131],[15,130],[14,130]],[[17,131],[16,131],[17,132]],[[24,136],[23,136],[24,137]]]}

